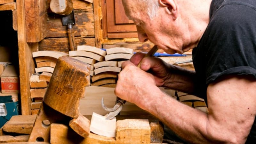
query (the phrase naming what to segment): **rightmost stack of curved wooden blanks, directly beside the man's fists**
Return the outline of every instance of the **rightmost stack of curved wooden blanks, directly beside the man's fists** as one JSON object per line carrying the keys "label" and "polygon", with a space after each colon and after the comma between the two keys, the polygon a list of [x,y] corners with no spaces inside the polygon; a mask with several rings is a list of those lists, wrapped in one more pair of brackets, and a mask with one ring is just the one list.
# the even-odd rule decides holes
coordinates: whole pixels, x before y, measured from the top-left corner
{"label": "rightmost stack of curved wooden blanks, directly beside the man's fists", "polygon": [[106,52],[105,61],[94,64],[92,86],[116,87],[121,63],[129,60],[133,55],[133,49],[124,47],[109,48]]}

